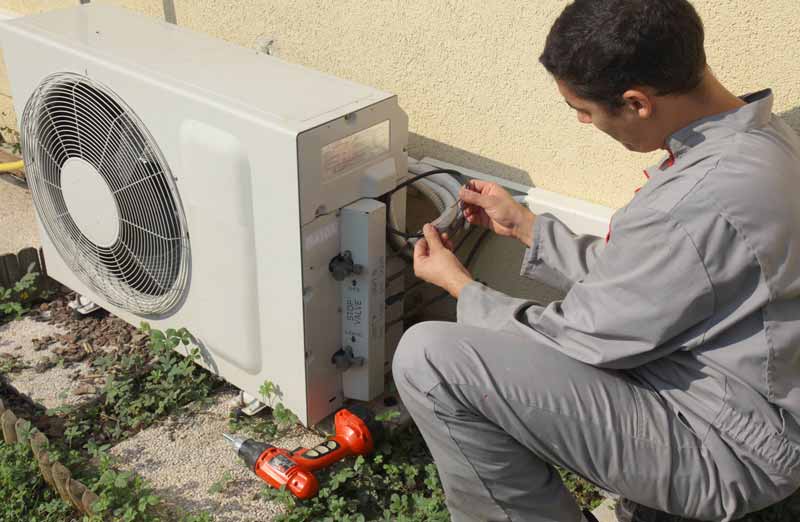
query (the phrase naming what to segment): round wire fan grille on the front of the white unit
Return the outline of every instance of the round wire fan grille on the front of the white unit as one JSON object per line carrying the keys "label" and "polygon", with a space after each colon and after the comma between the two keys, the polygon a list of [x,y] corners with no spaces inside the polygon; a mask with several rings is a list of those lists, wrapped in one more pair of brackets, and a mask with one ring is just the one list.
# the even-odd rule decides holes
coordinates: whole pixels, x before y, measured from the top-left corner
{"label": "round wire fan grille on the front of the white unit", "polygon": [[[169,166],[134,112],[106,86],[58,73],[28,101],[21,142],[39,218],[70,269],[118,307],[140,315],[169,312],[187,286],[189,239]],[[92,241],[70,214],[62,174],[73,158],[108,185],[113,205],[98,208],[116,206],[111,244]]]}

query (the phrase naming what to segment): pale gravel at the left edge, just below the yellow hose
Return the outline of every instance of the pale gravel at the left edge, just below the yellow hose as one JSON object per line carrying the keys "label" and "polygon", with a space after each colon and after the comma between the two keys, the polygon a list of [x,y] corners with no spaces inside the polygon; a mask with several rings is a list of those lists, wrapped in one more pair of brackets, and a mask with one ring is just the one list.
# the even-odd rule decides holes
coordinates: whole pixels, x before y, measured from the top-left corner
{"label": "pale gravel at the left edge, just below the yellow hose", "polygon": [[31,193],[4,174],[0,174],[0,230],[0,255],[39,247]]}

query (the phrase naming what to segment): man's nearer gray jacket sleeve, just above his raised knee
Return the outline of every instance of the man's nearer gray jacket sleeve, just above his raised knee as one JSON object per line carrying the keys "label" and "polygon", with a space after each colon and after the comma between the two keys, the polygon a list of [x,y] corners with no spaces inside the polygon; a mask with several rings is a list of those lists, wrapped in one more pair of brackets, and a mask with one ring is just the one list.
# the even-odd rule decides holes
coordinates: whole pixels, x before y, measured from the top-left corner
{"label": "man's nearer gray jacket sleeve, just above his raised knee", "polygon": [[711,281],[686,231],[667,214],[628,209],[563,301],[544,307],[470,283],[457,313],[460,323],[522,332],[587,364],[633,368],[699,344],[689,330],[713,310]]}

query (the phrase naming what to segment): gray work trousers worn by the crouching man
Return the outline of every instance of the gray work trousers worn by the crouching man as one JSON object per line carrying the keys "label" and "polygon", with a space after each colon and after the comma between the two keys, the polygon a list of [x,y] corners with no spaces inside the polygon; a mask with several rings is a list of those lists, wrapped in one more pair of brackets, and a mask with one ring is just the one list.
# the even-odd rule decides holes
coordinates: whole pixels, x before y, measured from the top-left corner
{"label": "gray work trousers worn by the crouching man", "polygon": [[629,373],[530,337],[420,323],[403,336],[393,374],[456,522],[578,522],[553,464],[687,518],[727,519],[725,504],[752,493],[744,468],[741,481],[730,469],[720,477],[695,433]]}

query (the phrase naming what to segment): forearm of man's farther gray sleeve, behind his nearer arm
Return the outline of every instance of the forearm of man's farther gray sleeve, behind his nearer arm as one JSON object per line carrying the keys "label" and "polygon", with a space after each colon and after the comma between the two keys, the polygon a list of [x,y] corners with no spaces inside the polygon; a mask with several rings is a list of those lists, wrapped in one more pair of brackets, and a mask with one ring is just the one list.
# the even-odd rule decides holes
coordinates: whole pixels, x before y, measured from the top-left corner
{"label": "forearm of man's farther gray sleeve, behind his nearer arm", "polygon": [[567,292],[586,277],[604,246],[599,237],[576,235],[551,214],[540,214],[533,222],[533,243],[525,250],[520,275]]}

